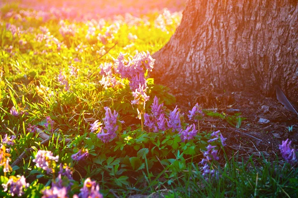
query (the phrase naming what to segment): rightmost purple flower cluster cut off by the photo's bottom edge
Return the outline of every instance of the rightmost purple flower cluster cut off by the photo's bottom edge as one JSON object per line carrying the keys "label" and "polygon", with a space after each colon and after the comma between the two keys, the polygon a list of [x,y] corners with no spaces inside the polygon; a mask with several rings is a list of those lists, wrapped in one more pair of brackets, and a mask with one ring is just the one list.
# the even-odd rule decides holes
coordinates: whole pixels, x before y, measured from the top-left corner
{"label": "rightmost purple flower cluster cut off by the photo's bottom edge", "polygon": [[79,191],[79,198],[103,198],[103,196],[99,193],[99,186],[96,185],[95,181],[91,181],[90,178],[85,180],[83,188]]}

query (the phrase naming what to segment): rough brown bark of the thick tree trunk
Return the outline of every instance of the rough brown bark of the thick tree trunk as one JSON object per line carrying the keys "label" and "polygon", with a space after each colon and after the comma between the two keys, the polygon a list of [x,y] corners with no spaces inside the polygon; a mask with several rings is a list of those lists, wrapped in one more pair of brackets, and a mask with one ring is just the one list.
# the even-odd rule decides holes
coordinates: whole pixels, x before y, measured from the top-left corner
{"label": "rough brown bark of the thick tree trunk", "polygon": [[172,89],[212,83],[270,95],[278,84],[298,102],[298,1],[188,0],[180,26],[153,58],[151,75]]}

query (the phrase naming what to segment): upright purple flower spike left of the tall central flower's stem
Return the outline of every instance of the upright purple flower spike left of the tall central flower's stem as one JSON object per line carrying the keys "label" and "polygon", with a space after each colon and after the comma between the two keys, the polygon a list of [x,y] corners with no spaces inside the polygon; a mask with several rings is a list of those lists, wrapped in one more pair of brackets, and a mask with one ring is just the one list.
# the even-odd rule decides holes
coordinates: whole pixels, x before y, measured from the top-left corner
{"label": "upright purple flower spike left of the tall central flower's stem", "polygon": [[[104,107],[105,109],[105,118],[104,127],[101,127],[99,132],[97,133],[97,137],[101,139],[103,142],[108,142],[110,139],[114,139],[116,137],[116,131],[118,130],[119,126],[117,125],[117,118],[118,113],[116,110],[112,113],[109,107]],[[120,121],[124,123],[124,121]]]}

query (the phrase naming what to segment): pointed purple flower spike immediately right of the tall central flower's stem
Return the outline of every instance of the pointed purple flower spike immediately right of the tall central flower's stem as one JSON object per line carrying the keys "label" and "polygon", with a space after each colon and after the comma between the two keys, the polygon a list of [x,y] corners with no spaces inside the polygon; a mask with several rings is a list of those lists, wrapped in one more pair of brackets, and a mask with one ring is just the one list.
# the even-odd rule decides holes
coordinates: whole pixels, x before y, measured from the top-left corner
{"label": "pointed purple flower spike immediately right of the tall central flower's stem", "polygon": [[166,118],[163,109],[163,103],[158,104],[158,98],[155,96],[153,103],[151,104],[151,114],[144,114],[144,125],[152,129],[153,132],[158,132],[159,130],[166,130]]}

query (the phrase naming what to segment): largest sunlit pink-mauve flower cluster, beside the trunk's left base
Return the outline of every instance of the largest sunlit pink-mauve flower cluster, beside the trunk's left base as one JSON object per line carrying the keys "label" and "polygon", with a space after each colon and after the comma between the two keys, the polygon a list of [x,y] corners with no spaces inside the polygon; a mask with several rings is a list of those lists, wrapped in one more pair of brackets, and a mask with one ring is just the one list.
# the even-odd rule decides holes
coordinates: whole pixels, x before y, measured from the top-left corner
{"label": "largest sunlit pink-mauve flower cluster, beside the trunk's left base", "polygon": [[122,78],[127,78],[130,83],[130,88],[135,91],[141,86],[147,88],[145,79],[146,71],[152,71],[154,65],[154,59],[150,56],[149,52],[137,52],[132,60],[125,60],[124,55],[120,53],[118,58],[115,60],[117,67],[117,73]]}

